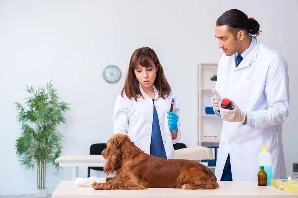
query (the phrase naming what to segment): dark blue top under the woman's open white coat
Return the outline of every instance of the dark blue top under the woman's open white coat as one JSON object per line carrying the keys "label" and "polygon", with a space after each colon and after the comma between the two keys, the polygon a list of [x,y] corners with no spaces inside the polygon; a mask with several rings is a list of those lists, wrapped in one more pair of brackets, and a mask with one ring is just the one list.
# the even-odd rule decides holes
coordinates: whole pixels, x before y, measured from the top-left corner
{"label": "dark blue top under the woman's open white coat", "polygon": [[154,113],[153,113],[153,125],[152,125],[150,154],[154,155],[156,157],[163,157],[163,158],[167,159],[166,153],[165,153],[165,148],[163,145],[163,140],[161,137],[158,115],[157,115],[157,111],[156,111],[156,108],[154,105],[155,99],[152,99],[152,100],[153,100]]}

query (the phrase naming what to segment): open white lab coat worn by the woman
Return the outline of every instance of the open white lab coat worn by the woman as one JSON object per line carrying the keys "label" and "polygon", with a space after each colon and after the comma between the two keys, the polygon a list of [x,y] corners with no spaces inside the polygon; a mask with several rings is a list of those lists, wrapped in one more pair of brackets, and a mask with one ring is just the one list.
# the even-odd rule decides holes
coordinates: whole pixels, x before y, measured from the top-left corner
{"label": "open white lab coat worn by the woman", "polygon": [[[145,94],[141,85],[139,85],[142,97],[138,98],[136,102],[134,99],[130,100],[124,95],[116,99],[113,124],[114,133],[127,134],[131,141],[145,153],[150,154],[151,134],[153,124],[153,101]],[[158,96],[158,91],[155,89],[155,107],[158,114],[161,137],[168,159],[176,158],[173,144],[176,144],[180,137],[180,119],[178,119],[178,134],[175,140],[172,139],[172,134],[168,126],[168,114],[170,110],[171,99],[175,98],[173,112],[178,116],[180,114],[179,101],[177,97],[171,92],[166,99]]]}

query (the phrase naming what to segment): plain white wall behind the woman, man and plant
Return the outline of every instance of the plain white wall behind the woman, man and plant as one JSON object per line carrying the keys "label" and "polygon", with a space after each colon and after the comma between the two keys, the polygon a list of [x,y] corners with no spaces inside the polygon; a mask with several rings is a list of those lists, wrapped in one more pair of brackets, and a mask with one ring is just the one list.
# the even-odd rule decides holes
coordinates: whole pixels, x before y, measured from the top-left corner
{"label": "plain white wall behind the woman, man and plant", "polygon": [[[14,102],[25,101],[25,86],[52,80],[61,100],[71,103],[67,124],[60,126],[63,154],[88,154],[92,143],[112,135],[114,102],[130,56],[140,47],[156,51],[179,96],[180,142],[196,145],[197,65],[218,62],[222,50],[214,38],[215,21],[232,8],[255,17],[263,31],[259,38],[289,64],[291,110],[283,140],[291,174],[292,161],[298,161],[297,0],[0,0],[0,194],[35,192],[36,173],[20,166],[14,149],[20,135]],[[118,65],[123,73],[114,85],[102,78],[108,64]],[[69,168],[58,177],[52,170],[49,165],[49,192],[60,180],[71,179]],[[87,169],[80,169],[79,176],[87,177]]]}

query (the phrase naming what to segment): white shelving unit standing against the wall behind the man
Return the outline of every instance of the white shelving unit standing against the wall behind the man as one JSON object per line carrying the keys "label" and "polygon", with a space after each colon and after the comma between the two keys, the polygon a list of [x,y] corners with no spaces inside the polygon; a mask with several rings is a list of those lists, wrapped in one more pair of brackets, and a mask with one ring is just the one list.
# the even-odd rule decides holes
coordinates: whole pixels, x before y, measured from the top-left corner
{"label": "white shelving unit standing against the wall behind the man", "polygon": [[[218,147],[220,142],[223,121],[214,114],[206,114],[205,107],[211,107],[210,98],[215,81],[210,78],[217,74],[217,64],[201,63],[198,65],[198,145]],[[213,153],[215,156],[215,153]],[[207,163],[207,162],[202,162]],[[214,169],[214,166],[208,166]]]}

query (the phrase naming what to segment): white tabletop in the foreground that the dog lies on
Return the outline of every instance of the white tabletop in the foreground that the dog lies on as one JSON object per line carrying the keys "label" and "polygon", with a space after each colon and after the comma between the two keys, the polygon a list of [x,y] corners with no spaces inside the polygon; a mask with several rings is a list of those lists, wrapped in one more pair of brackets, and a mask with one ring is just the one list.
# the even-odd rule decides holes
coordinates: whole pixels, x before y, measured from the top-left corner
{"label": "white tabletop in the foreground that the dog lies on", "polygon": [[75,186],[74,181],[61,181],[52,198],[297,198],[271,186],[258,186],[257,182],[218,182],[219,189],[184,190],[149,188],[147,190],[95,190]]}

